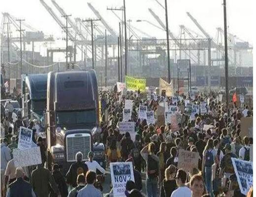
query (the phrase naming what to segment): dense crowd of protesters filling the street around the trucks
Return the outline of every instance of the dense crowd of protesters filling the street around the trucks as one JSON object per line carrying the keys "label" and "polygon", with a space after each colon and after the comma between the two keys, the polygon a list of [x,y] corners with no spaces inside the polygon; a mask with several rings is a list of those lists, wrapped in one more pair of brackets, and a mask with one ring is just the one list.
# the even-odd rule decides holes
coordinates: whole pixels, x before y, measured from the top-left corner
{"label": "dense crowd of protesters filling the street around the trucks", "polygon": [[[101,91],[101,137],[105,145],[107,168],[110,162],[132,162],[135,181],[126,183],[125,195],[128,197],[242,197],[236,179],[231,158],[250,160],[252,138],[241,137],[240,120],[253,114],[252,107],[225,106],[215,92],[199,94],[195,98],[184,94],[173,97],[158,95],[147,96],[146,93]],[[133,100],[132,115],[129,121],[135,122],[135,140],[130,133],[121,134],[119,122],[123,121],[123,108],[126,99]],[[185,114],[185,100],[199,105],[206,101],[208,112],[194,114],[190,118]],[[171,124],[159,124],[157,118],[160,103],[177,106],[181,115],[178,130],[172,131]],[[155,113],[156,124],[148,124],[138,118],[139,105],[146,105],[148,111]],[[165,104],[165,107],[166,104]],[[1,105],[2,109],[2,105]],[[2,110],[1,110],[2,111]],[[11,127],[13,123],[13,127]],[[28,124],[29,123],[29,124]],[[203,130],[204,124],[212,125]],[[20,126],[33,130],[33,142],[40,147],[42,164],[36,169],[15,168],[12,151],[18,147]],[[45,168],[46,147],[41,132],[41,122],[26,122],[18,115],[12,117],[1,112],[1,195],[37,196],[37,197],[101,197],[103,196],[103,176],[96,174],[99,170],[105,174],[98,162],[93,160],[94,153],[83,155],[76,153],[76,162],[66,174],[61,173],[55,164],[52,170]],[[2,136],[1,136],[2,137]],[[190,172],[178,169],[179,151],[181,149],[199,153],[199,162]],[[88,157],[87,162],[83,158]],[[142,179],[146,179],[146,193],[143,191]],[[109,183],[113,195],[112,184]],[[252,189],[247,196],[252,196]]]}

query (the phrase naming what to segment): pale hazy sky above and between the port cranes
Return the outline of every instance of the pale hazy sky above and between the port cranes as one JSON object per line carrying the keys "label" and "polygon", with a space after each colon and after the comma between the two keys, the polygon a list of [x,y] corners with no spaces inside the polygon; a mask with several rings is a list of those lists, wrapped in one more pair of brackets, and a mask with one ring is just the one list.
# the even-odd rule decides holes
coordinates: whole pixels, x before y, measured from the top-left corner
{"label": "pale hazy sky above and between the port cranes", "polygon": [[[164,0],[158,1],[164,5]],[[51,0],[45,0],[45,2],[50,5],[53,11],[61,18],[60,13],[55,9]],[[118,32],[119,21],[111,11],[107,11],[107,6],[120,7],[123,4],[123,0],[56,0],[56,2],[67,14],[72,14],[72,19],[76,17],[84,19],[88,17],[96,18],[91,9],[87,6],[87,2],[91,2],[114,30]],[[222,0],[167,0],[167,3],[169,28],[174,32],[174,35],[179,34],[179,25],[181,24],[202,34],[190,18],[188,18],[186,12],[190,12],[213,38],[216,37],[216,28],[223,28]],[[250,44],[252,44],[253,40],[252,4],[253,0],[227,0],[229,32],[237,35],[237,37],[244,41],[249,41]],[[133,26],[140,28],[149,35],[165,38],[164,31],[145,22],[135,22],[139,19],[149,20],[159,26],[149,13],[148,8],[153,9],[165,23],[164,9],[160,7],[155,0],[126,0],[126,20],[131,19]],[[25,19],[28,24],[38,30],[42,30],[45,34],[53,34],[59,37],[64,34],[39,0],[0,0],[0,11],[9,12],[17,18]],[[116,13],[121,16],[121,12]],[[61,20],[64,22],[63,18],[61,18]]]}

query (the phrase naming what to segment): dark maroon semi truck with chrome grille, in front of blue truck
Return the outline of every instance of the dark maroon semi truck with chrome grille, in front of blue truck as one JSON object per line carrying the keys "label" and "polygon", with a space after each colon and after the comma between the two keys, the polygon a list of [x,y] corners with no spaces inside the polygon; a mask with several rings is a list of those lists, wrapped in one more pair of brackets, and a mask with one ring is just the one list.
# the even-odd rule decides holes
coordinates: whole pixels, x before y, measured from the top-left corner
{"label": "dark maroon semi truck with chrome grille, in front of blue truck", "polygon": [[105,147],[97,142],[101,130],[95,71],[48,73],[46,106],[48,169],[58,163],[68,170],[78,151],[84,160],[94,151],[95,160],[105,168]]}

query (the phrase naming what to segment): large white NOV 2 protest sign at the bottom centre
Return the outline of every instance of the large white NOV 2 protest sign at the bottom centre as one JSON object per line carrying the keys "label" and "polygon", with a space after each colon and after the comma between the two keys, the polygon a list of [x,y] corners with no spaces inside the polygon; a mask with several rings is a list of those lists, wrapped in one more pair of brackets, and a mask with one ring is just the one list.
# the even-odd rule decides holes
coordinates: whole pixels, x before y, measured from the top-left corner
{"label": "large white NOV 2 protest sign at the bottom centre", "polygon": [[114,197],[126,197],[127,181],[134,181],[132,162],[110,163],[110,174]]}

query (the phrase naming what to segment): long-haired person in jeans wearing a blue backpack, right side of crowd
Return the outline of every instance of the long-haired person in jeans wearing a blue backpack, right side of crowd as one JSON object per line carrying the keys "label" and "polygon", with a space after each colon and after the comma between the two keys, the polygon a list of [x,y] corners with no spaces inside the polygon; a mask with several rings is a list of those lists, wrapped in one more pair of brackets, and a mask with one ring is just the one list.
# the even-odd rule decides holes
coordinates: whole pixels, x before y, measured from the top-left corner
{"label": "long-haired person in jeans wearing a blue backpack, right side of crowd", "polygon": [[212,165],[216,159],[217,152],[213,148],[213,140],[209,139],[203,152],[202,172],[206,183],[207,192],[213,197],[212,192]]}

